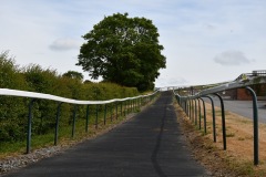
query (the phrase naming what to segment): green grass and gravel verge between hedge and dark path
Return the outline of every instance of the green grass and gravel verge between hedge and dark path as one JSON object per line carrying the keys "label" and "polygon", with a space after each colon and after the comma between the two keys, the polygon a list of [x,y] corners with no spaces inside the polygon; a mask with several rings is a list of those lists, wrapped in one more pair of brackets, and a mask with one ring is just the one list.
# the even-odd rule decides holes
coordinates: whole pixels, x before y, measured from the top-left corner
{"label": "green grass and gravel verge between hedge and dark path", "polygon": [[[135,113],[141,112],[146,106],[152,104],[156,101],[158,95],[151,101],[150,103],[144,103],[141,107],[132,107],[132,106],[123,106],[122,112],[121,107],[113,108],[111,112],[106,113],[106,122],[104,125],[104,113],[99,113],[99,119],[98,119],[98,127],[95,126],[95,115],[90,116],[89,122],[89,131],[85,132],[85,119],[84,118],[76,118],[75,121],[75,132],[74,136],[72,137],[72,125],[68,126],[61,126],[59,127],[59,139],[58,139],[58,146],[62,147],[70,147],[72,145],[75,145],[80,142],[83,142],[85,139],[91,139],[96,137],[98,135],[104,134],[109,132],[110,129],[114,128],[115,126],[122,124],[123,122],[131,118]],[[117,117],[116,117],[117,113]],[[0,142],[0,160],[4,160],[9,157],[16,157],[22,154],[25,154],[25,146],[27,142]],[[51,129],[47,134],[43,135],[37,135],[32,136],[31,139],[31,152],[44,148],[44,147],[51,147],[54,146],[54,129]]]}

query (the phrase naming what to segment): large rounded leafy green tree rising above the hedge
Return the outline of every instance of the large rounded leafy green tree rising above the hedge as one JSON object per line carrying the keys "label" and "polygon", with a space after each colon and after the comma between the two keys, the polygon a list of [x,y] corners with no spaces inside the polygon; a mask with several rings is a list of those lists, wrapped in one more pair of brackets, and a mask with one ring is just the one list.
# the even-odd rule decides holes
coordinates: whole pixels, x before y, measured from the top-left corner
{"label": "large rounded leafy green tree rising above the hedge", "polygon": [[86,42],[81,46],[79,62],[92,79],[140,91],[154,87],[165,67],[163,45],[158,43],[157,28],[145,18],[129,18],[127,13],[105,17],[83,35]]}

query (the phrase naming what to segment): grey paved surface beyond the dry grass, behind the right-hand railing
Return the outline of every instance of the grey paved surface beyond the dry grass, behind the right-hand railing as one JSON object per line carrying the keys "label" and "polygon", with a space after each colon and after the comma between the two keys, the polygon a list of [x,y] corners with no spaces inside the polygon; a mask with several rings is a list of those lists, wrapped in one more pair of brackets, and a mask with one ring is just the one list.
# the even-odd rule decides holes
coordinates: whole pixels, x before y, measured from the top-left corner
{"label": "grey paved surface beyond the dry grass, behind the right-hand railing", "polygon": [[[207,103],[211,103],[209,98],[204,98]],[[219,100],[213,97],[215,106],[221,106]],[[258,105],[258,122],[266,123],[266,101],[257,101]],[[231,101],[225,100],[224,106],[226,111],[236,113],[244,117],[253,119],[253,102],[252,101]]]}

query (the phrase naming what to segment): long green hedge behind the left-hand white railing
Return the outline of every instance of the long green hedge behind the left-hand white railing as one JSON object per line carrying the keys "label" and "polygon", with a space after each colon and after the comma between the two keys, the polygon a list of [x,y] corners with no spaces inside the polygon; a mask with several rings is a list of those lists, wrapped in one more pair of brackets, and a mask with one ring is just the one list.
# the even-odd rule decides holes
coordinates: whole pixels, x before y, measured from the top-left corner
{"label": "long green hedge behind the left-hand white railing", "polygon": [[[111,100],[135,96],[135,87],[113,83],[83,83],[62,76],[55,70],[31,64],[20,67],[8,53],[0,54],[0,87],[39,92],[75,100]],[[25,139],[28,105],[25,97],[0,96],[0,142]],[[58,103],[37,100],[33,105],[32,135],[45,134],[54,128]],[[62,104],[60,126],[69,125],[73,105]],[[80,118],[85,118],[85,106],[79,106]]]}

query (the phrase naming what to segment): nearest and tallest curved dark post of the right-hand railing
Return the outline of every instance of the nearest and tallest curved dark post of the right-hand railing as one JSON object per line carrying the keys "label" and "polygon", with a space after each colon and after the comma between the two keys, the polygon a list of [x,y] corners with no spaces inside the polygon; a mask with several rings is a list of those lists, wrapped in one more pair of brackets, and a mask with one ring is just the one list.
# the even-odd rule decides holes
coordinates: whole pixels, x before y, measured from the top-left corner
{"label": "nearest and tallest curved dark post of the right-hand railing", "polygon": [[254,165],[258,165],[258,108],[256,93],[249,86],[246,86],[253,96],[253,124],[254,124]]}

